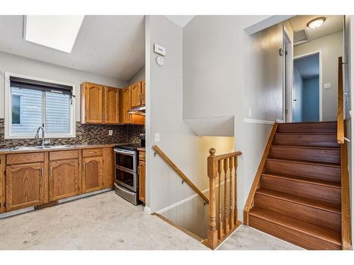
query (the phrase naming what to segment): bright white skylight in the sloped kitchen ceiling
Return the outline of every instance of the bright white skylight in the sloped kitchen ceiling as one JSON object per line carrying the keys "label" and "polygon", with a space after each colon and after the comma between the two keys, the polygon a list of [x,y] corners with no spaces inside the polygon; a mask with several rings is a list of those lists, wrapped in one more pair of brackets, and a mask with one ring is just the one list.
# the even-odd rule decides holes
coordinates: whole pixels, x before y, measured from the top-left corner
{"label": "bright white skylight in the sloped kitchen ceiling", "polygon": [[25,16],[24,38],[63,52],[72,52],[84,16]]}

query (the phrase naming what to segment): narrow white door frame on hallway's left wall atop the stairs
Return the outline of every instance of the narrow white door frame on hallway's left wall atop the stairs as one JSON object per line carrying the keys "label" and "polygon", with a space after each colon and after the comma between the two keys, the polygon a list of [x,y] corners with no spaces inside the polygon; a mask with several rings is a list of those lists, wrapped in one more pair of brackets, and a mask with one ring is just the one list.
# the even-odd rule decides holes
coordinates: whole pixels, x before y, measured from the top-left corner
{"label": "narrow white door frame on hallway's left wall atop the stairs", "polygon": [[[286,49],[287,48],[287,49]],[[282,121],[293,121],[293,64],[292,64],[292,41],[287,33],[285,25],[282,25]],[[287,54],[285,53],[287,51]]]}

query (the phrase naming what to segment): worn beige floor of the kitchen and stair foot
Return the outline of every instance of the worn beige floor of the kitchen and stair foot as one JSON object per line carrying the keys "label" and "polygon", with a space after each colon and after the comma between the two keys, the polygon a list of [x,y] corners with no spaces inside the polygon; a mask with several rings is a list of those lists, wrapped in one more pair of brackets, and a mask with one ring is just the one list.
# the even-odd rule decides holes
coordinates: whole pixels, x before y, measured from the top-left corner
{"label": "worn beige floor of the kitchen and stair foot", "polygon": [[[114,192],[0,220],[0,249],[208,249]],[[219,249],[299,249],[241,227]]]}

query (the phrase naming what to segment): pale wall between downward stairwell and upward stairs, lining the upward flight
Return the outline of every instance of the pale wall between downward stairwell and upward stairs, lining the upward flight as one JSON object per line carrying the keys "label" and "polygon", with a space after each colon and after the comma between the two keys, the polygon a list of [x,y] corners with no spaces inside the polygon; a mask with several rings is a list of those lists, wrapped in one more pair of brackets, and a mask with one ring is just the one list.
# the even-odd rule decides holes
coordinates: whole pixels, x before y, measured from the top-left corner
{"label": "pale wall between downward stairwell and upward stairs, lining the upward flight", "polygon": [[[271,124],[282,119],[282,25],[249,35],[258,16],[196,16],[183,28],[183,115],[234,115],[239,158],[239,218],[258,168]],[[292,38],[292,28],[284,23]]]}

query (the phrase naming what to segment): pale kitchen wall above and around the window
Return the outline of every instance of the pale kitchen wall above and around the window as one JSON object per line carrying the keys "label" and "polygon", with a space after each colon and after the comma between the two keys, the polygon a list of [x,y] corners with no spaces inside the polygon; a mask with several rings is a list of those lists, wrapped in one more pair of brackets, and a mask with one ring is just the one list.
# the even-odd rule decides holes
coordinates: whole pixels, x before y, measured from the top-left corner
{"label": "pale kitchen wall above and around the window", "polygon": [[[99,76],[94,73],[69,69],[67,67],[48,64],[42,61],[18,57],[12,54],[0,52],[0,71],[10,73],[20,73],[27,76],[45,78],[52,81],[62,81],[74,83],[76,85],[76,121],[80,120],[80,85],[84,82],[98,83],[106,86],[122,88],[126,85],[125,81]],[[0,76],[0,119],[5,117],[5,82]]]}

